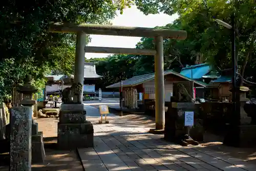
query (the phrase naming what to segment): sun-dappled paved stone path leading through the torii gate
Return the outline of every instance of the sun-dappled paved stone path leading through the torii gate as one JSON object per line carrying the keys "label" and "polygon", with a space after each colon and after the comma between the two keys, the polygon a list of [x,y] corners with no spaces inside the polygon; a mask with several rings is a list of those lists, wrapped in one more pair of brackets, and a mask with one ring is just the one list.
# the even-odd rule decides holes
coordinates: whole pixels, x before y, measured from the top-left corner
{"label": "sun-dappled paved stone path leading through the torii gate", "polygon": [[90,106],[86,110],[88,120],[94,123],[95,144],[94,148],[78,149],[85,170],[244,171],[256,168],[202,146],[182,147],[164,141],[163,135],[148,134],[155,123],[147,116],[111,115],[109,124],[98,124],[98,109]]}

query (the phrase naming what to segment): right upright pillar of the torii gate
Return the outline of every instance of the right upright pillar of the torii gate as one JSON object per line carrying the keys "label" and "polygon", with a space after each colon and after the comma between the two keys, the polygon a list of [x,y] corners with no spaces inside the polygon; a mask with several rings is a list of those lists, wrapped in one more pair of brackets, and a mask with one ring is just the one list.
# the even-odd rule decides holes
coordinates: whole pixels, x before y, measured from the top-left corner
{"label": "right upright pillar of the torii gate", "polygon": [[156,130],[164,130],[164,69],[163,69],[163,37],[155,37],[155,95],[156,95]]}

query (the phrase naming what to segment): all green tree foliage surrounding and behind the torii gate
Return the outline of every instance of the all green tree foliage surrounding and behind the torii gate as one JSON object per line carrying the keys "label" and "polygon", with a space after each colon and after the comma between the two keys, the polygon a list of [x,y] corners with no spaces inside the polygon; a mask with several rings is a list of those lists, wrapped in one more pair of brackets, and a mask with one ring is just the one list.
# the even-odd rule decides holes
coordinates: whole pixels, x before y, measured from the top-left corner
{"label": "all green tree foliage surrounding and behind the torii gate", "polygon": [[[4,1],[0,7],[0,99],[10,96],[13,84],[23,83],[27,74],[33,76],[32,83],[38,89],[44,87],[44,75],[50,71],[73,74],[75,35],[49,33],[49,23],[109,24],[116,10],[122,13],[125,7],[133,4],[131,0],[113,2],[116,1]],[[186,40],[164,40],[164,69],[175,71],[197,60],[207,61],[217,69],[230,68],[232,33],[213,18],[230,24],[230,16],[236,12],[238,65],[242,75],[255,73],[256,10],[253,0],[135,0],[134,3],[146,15],[179,14],[173,24],[156,27],[187,31]],[[153,49],[154,46],[153,38],[143,37],[136,48]],[[154,72],[154,56],[112,55],[88,61],[95,62],[98,74],[104,76],[101,87]]]}

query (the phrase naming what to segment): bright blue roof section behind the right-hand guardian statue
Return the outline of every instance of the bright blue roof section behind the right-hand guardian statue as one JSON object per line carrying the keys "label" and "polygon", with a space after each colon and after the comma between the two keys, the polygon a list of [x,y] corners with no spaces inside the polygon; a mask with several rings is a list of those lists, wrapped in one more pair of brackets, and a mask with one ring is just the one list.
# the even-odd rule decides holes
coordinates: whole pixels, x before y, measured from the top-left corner
{"label": "bright blue roof section behind the right-hand guardian statue", "polygon": [[210,70],[210,66],[207,63],[201,63],[198,65],[183,68],[180,74],[191,79],[199,79],[202,78],[205,74],[209,73]]}

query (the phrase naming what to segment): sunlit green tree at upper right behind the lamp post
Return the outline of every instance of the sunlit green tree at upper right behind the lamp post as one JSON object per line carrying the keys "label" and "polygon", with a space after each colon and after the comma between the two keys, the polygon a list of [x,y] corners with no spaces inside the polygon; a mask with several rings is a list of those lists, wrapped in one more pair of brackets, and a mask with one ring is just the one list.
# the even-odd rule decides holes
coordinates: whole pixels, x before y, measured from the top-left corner
{"label": "sunlit green tree at upper right behind the lamp post", "polygon": [[138,9],[145,14],[178,13],[183,29],[188,32],[187,39],[194,42],[193,52],[203,56],[212,66],[221,69],[231,68],[231,32],[214,22],[213,18],[230,23],[230,16],[236,12],[239,49],[237,60],[241,75],[244,75],[248,59],[253,54],[256,39],[254,1],[165,0],[159,3],[157,0],[137,0],[135,2]]}

